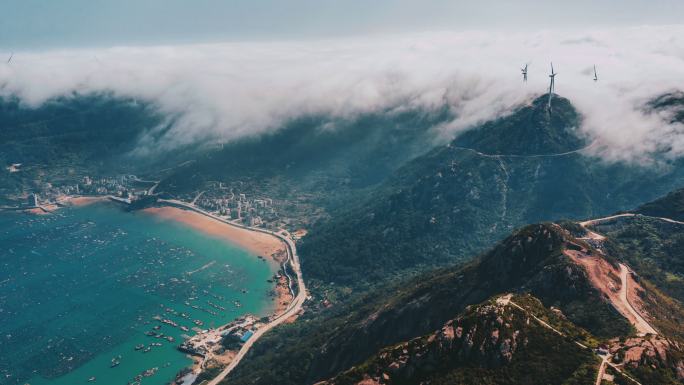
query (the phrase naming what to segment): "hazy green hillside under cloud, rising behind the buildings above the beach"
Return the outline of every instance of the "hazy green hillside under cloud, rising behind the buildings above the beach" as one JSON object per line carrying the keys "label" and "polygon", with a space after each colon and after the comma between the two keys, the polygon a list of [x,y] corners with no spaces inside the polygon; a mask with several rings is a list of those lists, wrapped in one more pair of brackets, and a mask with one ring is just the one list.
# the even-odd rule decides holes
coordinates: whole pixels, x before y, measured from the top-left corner
{"label": "hazy green hillside under cloud, rising behind the buildings above the beach", "polygon": [[387,110],[351,118],[307,116],[279,129],[219,146],[164,179],[159,191],[174,195],[203,189],[209,181],[273,186],[283,198],[316,194],[321,205],[333,197],[374,186],[407,160],[433,146],[433,128],[446,122],[445,109]]}

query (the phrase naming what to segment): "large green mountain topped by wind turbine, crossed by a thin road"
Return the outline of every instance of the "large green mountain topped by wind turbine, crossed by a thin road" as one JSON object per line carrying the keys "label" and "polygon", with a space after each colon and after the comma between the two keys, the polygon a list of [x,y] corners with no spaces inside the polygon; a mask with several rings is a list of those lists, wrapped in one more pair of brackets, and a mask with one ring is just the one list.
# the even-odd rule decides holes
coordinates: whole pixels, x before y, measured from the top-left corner
{"label": "large green mountain topped by wind turbine, crossed by a thin road", "polygon": [[302,242],[309,277],[367,285],[461,261],[525,223],[630,209],[684,183],[681,160],[656,168],[592,156],[570,101],[556,96],[551,110],[547,101],[407,162],[365,200],[333,212]]}

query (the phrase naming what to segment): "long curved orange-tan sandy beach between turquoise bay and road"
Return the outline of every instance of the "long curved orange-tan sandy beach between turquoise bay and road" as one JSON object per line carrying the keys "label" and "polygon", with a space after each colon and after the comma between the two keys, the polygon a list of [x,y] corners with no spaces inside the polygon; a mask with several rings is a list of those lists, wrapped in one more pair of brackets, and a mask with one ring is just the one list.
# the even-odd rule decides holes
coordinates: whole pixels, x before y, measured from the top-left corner
{"label": "long curved orange-tan sandy beach between turquoise bay and road", "polygon": [[143,212],[162,219],[177,221],[205,234],[223,238],[255,255],[265,257],[269,262],[280,264],[278,257],[285,251],[283,242],[272,235],[231,226],[194,211],[165,206],[150,207]]}

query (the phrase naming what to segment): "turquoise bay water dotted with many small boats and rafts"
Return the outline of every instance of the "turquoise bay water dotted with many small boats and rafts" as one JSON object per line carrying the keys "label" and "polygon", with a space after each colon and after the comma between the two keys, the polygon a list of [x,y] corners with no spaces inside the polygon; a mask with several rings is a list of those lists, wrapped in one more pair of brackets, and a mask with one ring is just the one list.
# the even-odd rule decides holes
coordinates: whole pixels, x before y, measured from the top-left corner
{"label": "turquoise bay water dotted with many small boats and rafts", "polygon": [[155,367],[141,383],[166,384],[191,363],[180,326],[266,315],[272,275],[224,240],[113,204],[0,213],[0,384],[124,385]]}

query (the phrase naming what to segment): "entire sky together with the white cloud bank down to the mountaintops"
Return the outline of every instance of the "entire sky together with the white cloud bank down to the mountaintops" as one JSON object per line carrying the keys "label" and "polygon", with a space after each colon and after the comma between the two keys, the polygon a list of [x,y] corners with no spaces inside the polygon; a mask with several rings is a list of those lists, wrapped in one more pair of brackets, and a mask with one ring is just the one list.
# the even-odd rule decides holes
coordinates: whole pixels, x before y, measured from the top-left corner
{"label": "entire sky together with the white cloud bank down to the mountaintops", "polygon": [[682,15],[684,0],[0,0],[0,97],[150,101],[175,124],[143,149],[445,103],[449,139],[547,92],[553,61],[592,151],[648,163],[684,156],[684,125],[643,112],[684,84]]}

